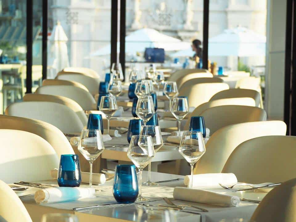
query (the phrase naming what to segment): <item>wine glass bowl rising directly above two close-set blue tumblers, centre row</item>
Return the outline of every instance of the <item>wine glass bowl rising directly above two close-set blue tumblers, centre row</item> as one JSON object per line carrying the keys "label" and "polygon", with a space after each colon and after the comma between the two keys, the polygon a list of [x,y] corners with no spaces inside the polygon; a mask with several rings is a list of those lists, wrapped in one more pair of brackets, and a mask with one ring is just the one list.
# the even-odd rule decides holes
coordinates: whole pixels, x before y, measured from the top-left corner
{"label": "wine glass bowl rising directly above two close-set blue tumblers, centre row", "polygon": [[143,96],[138,99],[136,106],[137,116],[143,120],[144,125],[150,120],[155,113],[153,99],[151,96]]}

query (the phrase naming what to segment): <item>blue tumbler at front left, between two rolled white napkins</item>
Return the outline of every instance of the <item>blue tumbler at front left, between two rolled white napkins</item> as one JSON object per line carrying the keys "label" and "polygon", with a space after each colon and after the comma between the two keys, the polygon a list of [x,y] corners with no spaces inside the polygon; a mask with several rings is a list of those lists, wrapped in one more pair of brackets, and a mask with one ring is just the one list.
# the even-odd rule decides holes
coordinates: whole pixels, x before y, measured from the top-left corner
{"label": "blue tumbler at front left, between two rolled white napkins", "polygon": [[58,171],[58,184],[60,187],[79,187],[81,171],[78,155],[63,154],[60,159]]}

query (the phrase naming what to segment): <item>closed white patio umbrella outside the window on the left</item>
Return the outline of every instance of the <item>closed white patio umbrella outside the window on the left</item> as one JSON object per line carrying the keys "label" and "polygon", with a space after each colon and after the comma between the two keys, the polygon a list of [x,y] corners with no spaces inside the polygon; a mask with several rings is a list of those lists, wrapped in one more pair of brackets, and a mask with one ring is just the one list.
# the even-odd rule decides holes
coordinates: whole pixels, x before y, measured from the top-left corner
{"label": "closed white patio umbrella outside the window on the left", "polygon": [[53,27],[49,40],[49,58],[48,66],[50,72],[47,74],[48,79],[54,79],[56,74],[63,68],[69,66],[67,35],[64,32],[61,23],[58,21]]}

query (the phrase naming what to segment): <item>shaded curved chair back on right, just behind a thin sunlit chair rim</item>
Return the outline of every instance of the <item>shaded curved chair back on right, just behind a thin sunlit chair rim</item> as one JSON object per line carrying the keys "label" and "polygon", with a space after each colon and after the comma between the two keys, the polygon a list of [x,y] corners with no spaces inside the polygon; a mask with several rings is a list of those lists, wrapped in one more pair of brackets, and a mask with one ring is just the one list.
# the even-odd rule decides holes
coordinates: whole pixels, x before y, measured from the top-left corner
{"label": "shaded curved chair back on right, just behind a thin sunlit chair rim", "polygon": [[260,106],[260,99],[261,99],[260,93],[253,89],[235,88],[235,89],[223,90],[213,95],[210,101],[216,100],[216,99],[241,98],[241,97],[253,98],[256,102],[256,106]]}

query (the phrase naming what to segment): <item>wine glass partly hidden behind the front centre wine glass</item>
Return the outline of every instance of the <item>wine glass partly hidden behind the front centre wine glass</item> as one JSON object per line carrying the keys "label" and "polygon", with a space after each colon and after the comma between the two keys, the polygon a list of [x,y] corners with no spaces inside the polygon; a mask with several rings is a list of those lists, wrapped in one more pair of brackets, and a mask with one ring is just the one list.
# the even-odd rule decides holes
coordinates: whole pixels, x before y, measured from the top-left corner
{"label": "wine glass partly hidden behind the front centre wine glass", "polygon": [[[155,153],[162,147],[163,141],[161,136],[161,131],[159,126],[155,125],[144,125],[142,126],[140,135],[149,135],[152,138],[152,143]],[[151,161],[148,165],[148,180],[144,183],[147,186],[157,185],[150,180],[151,177]]]}

